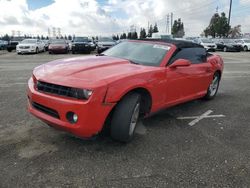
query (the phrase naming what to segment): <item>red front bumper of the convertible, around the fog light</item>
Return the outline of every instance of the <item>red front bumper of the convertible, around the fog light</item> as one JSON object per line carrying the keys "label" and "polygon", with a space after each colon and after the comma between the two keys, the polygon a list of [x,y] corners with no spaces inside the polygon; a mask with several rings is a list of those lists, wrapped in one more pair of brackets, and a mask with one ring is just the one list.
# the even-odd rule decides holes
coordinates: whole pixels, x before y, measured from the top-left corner
{"label": "red front bumper of the convertible, around the fog light", "polygon": [[[100,92],[102,93],[102,91]],[[105,92],[104,92],[105,93]],[[105,120],[114,107],[114,104],[104,104],[101,97],[88,101],[69,99],[61,96],[45,94],[34,88],[32,78],[28,82],[28,111],[52,127],[69,132],[81,138],[90,138],[98,134],[105,123]],[[104,95],[102,95],[104,96]],[[41,105],[49,110],[53,110],[58,117],[44,113],[33,104]],[[74,112],[78,115],[75,124],[67,120],[66,114]]]}

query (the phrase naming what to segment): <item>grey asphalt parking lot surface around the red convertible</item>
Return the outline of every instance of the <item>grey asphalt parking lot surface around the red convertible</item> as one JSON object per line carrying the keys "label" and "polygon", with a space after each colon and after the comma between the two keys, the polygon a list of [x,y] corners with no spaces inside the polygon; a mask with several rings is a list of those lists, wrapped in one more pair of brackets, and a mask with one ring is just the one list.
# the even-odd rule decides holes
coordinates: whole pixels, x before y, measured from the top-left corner
{"label": "grey asphalt parking lot surface around the red convertible", "polygon": [[75,138],[27,112],[33,68],[78,55],[0,52],[0,187],[250,187],[250,52],[219,54],[214,100],[144,119],[125,145]]}

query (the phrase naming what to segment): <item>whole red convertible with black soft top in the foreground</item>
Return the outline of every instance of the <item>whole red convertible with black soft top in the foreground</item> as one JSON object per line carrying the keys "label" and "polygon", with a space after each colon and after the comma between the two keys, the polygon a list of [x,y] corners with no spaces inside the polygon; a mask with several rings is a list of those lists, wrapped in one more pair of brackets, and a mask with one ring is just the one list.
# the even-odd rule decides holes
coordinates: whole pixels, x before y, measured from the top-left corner
{"label": "whole red convertible with black soft top in the foreground", "polygon": [[28,82],[28,110],[81,138],[107,125],[113,139],[132,139],[139,118],[190,100],[215,97],[223,60],[175,40],[131,40],[97,56],[49,62]]}

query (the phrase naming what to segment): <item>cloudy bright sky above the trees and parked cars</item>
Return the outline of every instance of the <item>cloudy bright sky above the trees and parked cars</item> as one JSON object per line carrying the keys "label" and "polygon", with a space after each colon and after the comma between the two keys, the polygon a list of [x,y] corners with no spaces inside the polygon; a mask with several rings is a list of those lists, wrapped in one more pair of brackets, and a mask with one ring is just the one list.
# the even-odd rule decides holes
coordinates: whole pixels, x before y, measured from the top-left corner
{"label": "cloudy bright sky above the trees and parked cars", "polygon": [[[157,23],[166,32],[167,14],[181,18],[186,36],[198,36],[212,15],[225,12],[230,0],[0,0],[0,36],[96,36],[137,31]],[[250,0],[233,0],[231,26],[250,33]]]}

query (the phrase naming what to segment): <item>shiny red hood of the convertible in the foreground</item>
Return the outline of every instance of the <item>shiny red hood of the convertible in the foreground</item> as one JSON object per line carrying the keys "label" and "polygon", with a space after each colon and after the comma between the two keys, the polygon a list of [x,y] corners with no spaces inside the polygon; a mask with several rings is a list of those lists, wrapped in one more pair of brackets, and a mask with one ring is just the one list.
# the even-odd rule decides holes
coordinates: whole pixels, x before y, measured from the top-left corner
{"label": "shiny red hood of the convertible in the foreground", "polygon": [[125,59],[88,56],[52,61],[35,68],[33,74],[44,82],[91,89],[152,69]]}

